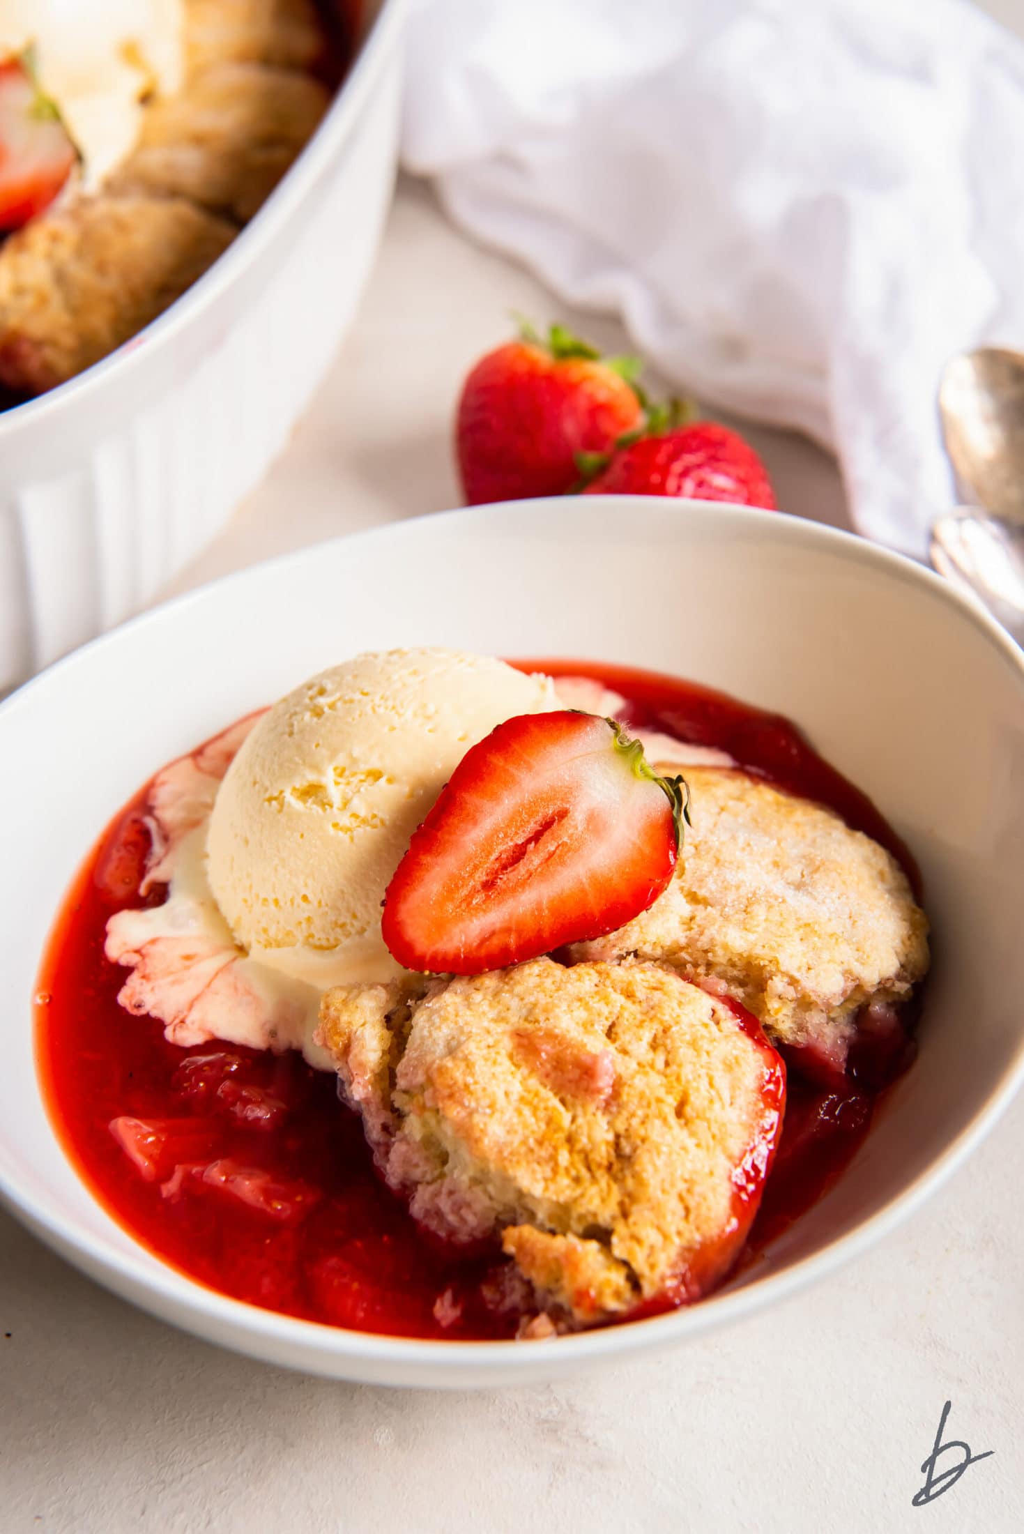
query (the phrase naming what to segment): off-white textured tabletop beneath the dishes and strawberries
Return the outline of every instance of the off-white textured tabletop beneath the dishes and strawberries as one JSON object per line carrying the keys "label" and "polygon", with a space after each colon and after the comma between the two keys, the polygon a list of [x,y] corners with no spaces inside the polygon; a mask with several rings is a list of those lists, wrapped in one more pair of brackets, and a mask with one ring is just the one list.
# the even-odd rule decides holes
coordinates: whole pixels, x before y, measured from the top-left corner
{"label": "off-white textured tabletop beneath the dishes and strawberries", "polygon": [[[178,588],[454,505],[452,402],[510,308],[553,313],[403,186],[316,407]],[[615,327],[566,318],[622,347]],[[845,522],[823,454],[750,434],[786,509]],[[661,1359],[489,1396],[218,1351],[0,1213],[0,1534],[1021,1529],[1022,1160],[1018,1101],[923,1213],[809,1293]],[[946,1401],[946,1437],[993,1453],[914,1508]]]}

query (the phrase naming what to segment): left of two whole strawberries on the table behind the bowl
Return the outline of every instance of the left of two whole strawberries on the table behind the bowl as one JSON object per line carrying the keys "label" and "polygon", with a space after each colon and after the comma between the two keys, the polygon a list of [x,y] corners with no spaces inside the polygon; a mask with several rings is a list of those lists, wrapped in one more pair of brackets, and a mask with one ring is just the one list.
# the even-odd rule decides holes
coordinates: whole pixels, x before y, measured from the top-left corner
{"label": "left of two whole strawberries on the table behind the bowl", "polygon": [[636,357],[607,357],[552,325],[523,325],[481,357],[458,400],[455,451],[469,505],[563,495],[579,483],[576,456],[609,453],[644,422]]}

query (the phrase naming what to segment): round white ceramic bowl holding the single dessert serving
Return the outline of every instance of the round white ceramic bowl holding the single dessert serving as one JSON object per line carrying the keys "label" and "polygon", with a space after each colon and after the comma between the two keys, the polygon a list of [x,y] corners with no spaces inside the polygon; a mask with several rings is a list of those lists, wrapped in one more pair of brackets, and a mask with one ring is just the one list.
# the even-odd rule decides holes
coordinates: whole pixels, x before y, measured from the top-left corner
{"label": "round white ceramic bowl holding the single dessert serving", "polygon": [[[914,1069],[845,1177],[717,1296],[552,1342],[411,1342],[221,1298],[135,1246],[43,1111],[29,1003],[63,891],[162,762],[360,649],[592,657],[797,719],[917,853],[934,973]],[[840,532],[705,503],[587,497],[403,522],[170,603],[0,707],[0,1190],[136,1304],[345,1379],[495,1385],[664,1348],[766,1305],[885,1235],[967,1155],[1024,1072],[1024,655],[938,577]]]}

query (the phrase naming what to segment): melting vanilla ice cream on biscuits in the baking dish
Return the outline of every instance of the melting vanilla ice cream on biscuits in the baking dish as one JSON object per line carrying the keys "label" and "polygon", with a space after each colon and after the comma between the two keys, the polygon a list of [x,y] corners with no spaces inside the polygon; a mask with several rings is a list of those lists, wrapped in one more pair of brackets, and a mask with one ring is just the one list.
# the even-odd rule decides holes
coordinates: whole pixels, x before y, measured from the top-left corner
{"label": "melting vanilla ice cream on biscuits in the baking dish", "polygon": [[0,0],[0,52],[34,46],[87,186],[135,144],[143,97],[179,87],[182,32],[184,0]]}

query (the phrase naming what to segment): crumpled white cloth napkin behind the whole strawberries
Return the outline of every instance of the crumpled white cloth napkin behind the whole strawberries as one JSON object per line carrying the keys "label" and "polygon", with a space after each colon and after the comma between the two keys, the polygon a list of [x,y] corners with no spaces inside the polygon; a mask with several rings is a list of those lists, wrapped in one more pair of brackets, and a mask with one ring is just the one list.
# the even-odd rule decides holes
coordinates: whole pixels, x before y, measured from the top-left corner
{"label": "crumpled white cloth napkin behind the whole strawberries", "polygon": [[943,364],[1024,347],[1024,46],[969,0],[418,0],[403,158],[923,554]]}

